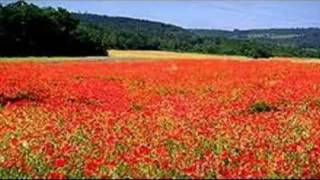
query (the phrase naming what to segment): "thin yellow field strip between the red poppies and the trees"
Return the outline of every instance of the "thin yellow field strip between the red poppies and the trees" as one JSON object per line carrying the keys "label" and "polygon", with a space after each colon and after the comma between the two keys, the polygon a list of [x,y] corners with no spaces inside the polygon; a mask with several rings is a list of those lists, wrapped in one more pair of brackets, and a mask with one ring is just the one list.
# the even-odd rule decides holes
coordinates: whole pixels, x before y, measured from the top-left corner
{"label": "thin yellow field strip between the red poppies and the trees", "polygon": [[[108,61],[108,62],[123,62],[123,61],[155,61],[155,60],[237,60],[250,61],[253,60],[244,56],[228,56],[228,55],[208,55],[198,53],[179,53],[169,51],[144,51],[144,50],[109,50],[109,56],[92,56],[92,57],[3,57],[0,62],[73,62],[73,61]],[[266,61],[291,61],[297,63],[320,63],[320,59],[311,58],[282,58],[273,57],[269,59],[259,59]]]}

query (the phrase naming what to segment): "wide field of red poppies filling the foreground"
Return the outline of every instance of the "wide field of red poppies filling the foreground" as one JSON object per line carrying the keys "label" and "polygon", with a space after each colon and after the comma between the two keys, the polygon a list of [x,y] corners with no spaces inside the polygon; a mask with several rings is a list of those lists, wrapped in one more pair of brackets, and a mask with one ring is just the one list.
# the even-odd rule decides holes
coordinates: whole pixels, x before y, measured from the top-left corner
{"label": "wide field of red poppies filling the foreground", "polygon": [[0,63],[0,177],[320,178],[320,64]]}

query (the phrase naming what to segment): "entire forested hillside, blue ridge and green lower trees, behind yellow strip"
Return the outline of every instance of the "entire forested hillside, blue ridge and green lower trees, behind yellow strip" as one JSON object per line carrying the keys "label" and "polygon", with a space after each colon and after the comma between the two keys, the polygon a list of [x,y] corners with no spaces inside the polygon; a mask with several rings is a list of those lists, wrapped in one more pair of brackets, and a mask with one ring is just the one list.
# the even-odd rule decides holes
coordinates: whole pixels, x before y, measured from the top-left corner
{"label": "entire forested hillside, blue ridge and green lower trees, behind yellow strip", "polygon": [[103,43],[114,49],[154,49],[245,56],[320,57],[320,29],[215,30],[125,17],[74,13],[83,24],[103,29]]}

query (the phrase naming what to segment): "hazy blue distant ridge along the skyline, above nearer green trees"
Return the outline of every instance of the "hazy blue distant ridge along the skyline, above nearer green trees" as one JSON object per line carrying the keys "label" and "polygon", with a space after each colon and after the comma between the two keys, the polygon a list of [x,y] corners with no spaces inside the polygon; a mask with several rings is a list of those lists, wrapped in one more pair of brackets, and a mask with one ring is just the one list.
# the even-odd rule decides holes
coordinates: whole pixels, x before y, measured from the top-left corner
{"label": "hazy blue distant ridge along the skyline, above nearer green trees", "polygon": [[95,14],[73,14],[82,22],[90,22],[107,30],[115,29],[137,34],[152,34],[165,38],[168,34],[179,33],[185,36],[224,37],[230,39],[258,39],[297,45],[299,47],[320,47],[320,28],[287,28],[287,29],[252,29],[252,30],[218,30],[218,29],[184,29],[179,26],[127,17],[112,17]]}

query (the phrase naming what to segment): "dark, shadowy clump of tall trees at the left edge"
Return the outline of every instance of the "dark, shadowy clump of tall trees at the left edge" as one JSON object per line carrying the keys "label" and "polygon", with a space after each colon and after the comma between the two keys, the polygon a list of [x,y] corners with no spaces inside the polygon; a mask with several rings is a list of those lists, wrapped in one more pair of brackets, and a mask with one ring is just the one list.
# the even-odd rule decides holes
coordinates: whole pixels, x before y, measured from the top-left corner
{"label": "dark, shadowy clump of tall trees at the left edge", "polygon": [[24,1],[0,7],[1,56],[102,55],[106,50],[65,9]]}

